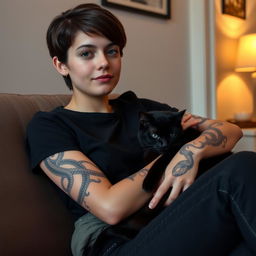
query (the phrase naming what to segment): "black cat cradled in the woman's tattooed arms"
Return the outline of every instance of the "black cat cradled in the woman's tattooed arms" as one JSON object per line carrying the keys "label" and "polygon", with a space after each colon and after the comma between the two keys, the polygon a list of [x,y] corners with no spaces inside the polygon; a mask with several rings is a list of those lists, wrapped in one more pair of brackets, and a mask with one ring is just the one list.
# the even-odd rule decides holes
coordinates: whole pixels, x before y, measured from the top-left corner
{"label": "black cat cradled in the woman's tattooed arms", "polygon": [[140,113],[138,139],[145,152],[155,152],[162,156],[149,170],[143,189],[153,191],[174,155],[186,142],[199,136],[195,129],[183,131],[181,120],[185,110],[151,111]]}

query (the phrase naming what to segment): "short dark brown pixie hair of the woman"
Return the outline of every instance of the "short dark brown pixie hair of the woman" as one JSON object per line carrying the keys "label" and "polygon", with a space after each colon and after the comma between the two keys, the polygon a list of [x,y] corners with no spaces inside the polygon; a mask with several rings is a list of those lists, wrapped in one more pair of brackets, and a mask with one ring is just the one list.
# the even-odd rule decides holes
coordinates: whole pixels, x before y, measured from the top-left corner
{"label": "short dark brown pixie hair of the woman", "polygon": [[[119,46],[121,56],[126,44],[126,35],[121,22],[108,10],[96,4],[81,4],[56,16],[46,35],[51,57],[67,64],[67,52],[79,31],[87,35],[98,35]],[[72,90],[70,76],[63,76],[67,87]]]}

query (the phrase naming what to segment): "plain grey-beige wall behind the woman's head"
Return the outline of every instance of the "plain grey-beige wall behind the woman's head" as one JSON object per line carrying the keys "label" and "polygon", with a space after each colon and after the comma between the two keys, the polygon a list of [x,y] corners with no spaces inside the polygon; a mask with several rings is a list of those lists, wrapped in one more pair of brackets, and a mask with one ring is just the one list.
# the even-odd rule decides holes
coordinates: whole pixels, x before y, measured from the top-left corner
{"label": "plain grey-beige wall behind the woman's head", "polygon": [[[68,92],[51,65],[45,32],[55,15],[83,2],[1,0],[0,92]],[[131,89],[141,97],[189,110],[188,1],[171,0],[171,7],[171,20],[110,9],[128,35],[116,92]]]}

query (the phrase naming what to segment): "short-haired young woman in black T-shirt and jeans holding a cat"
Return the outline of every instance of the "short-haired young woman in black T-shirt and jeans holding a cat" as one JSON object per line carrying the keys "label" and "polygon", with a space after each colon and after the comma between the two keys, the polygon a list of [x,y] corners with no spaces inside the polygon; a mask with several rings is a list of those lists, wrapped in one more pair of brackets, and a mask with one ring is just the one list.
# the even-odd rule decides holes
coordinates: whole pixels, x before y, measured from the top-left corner
{"label": "short-haired young woman in black T-shirt and jeans holding a cat", "polygon": [[[76,219],[74,255],[89,255],[111,225],[145,203],[155,208],[172,187],[165,209],[128,241],[110,238],[98,255],[229,255],[237,245],[256,253],[256,154],[228,157],[196,179],[201,159],[228,152],[241,137],[230,123],[185,115],[182,127],[201,135],[170,161],[154,194],[142,189],[147,170],[137,139],[140,111],[172,110],[133,92],[110,99],[126,44],[119,20],[95,4],[57,16],[47,32],[54,67],[72,90],[70,102],[37,113],[28,127],[32,167],[63,191]],[[184,160],[188,165],[177,170]],[[243,254],[246,255],[246,254]]]}

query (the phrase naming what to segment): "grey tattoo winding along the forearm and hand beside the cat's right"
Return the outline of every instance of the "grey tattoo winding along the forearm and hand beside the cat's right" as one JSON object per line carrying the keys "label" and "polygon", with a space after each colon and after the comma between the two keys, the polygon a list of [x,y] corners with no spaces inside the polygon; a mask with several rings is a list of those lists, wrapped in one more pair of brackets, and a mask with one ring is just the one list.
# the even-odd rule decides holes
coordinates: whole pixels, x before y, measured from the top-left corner
{"label": "grey tattoo winding along the forearm and hand beside the cat's right", "polygon": [[[204,120],[205,121],[205,120]],[[179,153],[185,157],[185,160],[177,163],[173,170],[172,174],[175,177],[181,176],[185,174],[188,170],[190,170],[194,165],[193,152],[189,150],[191,147],[196,149],[201,149],[206,145],[211,146],[226,146],[227,137],[223,135],[223,133],[217,128],[218,126],[223,125],[222,122],[215,122],[208,126],[208,128],[202,132],[201,136],[204,135],[204,140],[199,141],[198,144],[188,143],[181,147]]]}

